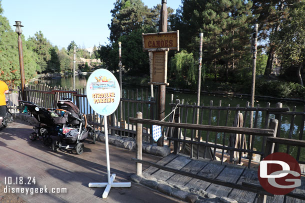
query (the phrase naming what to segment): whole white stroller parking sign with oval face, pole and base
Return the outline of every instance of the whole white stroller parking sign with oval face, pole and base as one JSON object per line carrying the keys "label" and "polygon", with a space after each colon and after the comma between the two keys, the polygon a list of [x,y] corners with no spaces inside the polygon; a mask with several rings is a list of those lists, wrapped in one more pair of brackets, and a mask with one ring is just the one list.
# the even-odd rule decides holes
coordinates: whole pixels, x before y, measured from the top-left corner
{"label": "whole white stroller parking sign with oval face, pole and base", "polygon": [[114,75],[106,69],[95,70],[88,78],[87,99],[92,109],[104,118],[104,133],[107,159],[108,183],[89,183],[89,188],[106,188],[102,198],[107,198],[111,188],[129,188],[131,183],[113,183],[115,174],[110,177],[107,117],[112,114],[120,102],[120,88]]}

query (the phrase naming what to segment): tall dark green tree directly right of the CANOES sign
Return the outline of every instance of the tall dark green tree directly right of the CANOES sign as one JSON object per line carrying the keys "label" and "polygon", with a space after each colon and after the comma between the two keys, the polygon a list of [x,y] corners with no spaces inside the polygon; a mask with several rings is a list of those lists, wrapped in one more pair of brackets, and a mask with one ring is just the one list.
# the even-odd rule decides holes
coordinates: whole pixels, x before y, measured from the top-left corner
{"label": "tall dark green tree directly right of the CANOES sign", "polygon": [[[251,1],[182,0],[173,29],[180,32],[180,48],[198,57],[199,32],[203,32],[203,61],[207,68],[228,79],[230,71],[243,68],[242,56],[249,52]],[[219,71],[221,69],[221,71]]]}

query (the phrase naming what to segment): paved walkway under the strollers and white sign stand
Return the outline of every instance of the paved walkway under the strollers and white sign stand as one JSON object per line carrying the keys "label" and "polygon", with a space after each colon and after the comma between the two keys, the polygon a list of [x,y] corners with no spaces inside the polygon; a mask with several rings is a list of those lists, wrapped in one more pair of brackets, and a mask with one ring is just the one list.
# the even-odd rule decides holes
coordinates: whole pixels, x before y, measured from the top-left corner
{"label": "paved walkway under the strollers and white sign stand", "polygon": [[[102,199],[103,188],[88,188],[90,182],[107,182],[104,143],[95,145],[87,140],[84,153],[70,151],[53,152],[40,140],[30,141],[33,132],[28,123],[17,121],[0,130],[0,183],[12,179],[4,188],[24,190],[17,195],[28,203],[182,203],[141,185],[131,183],[131,188],[112,188],[107,199]],[[135,152],[109,146],[111,173],[115,182],[129,182],[135,173],[135,164],[130,161]],[[143,154],[145,160],[156,162],[160,158]],[[23,185],[16,183],[22,179]],[[21,178],[20,178],[21,177]],[[25,185],[29,178],[35,184]],[[25,194],[32,188],[47,188],[48,193]],[[51,193],[52,188],[66,188],[66,193]],[[1,202],[1,201],[0,201]],[[2,203],[2,202],[1,202]]]}

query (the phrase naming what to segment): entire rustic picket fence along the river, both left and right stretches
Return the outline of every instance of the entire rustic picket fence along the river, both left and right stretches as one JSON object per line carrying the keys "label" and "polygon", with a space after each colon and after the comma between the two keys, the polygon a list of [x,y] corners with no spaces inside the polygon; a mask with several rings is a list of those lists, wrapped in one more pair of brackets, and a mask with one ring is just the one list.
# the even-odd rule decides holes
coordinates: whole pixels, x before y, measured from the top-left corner
{"label": "entire rustic picket fence along the river, both left and right stretches", "polygon": [[[21,107],[16,104],[16,101],[12,102],[12,100],[19,100],[20,98],[20,90],[11,88],[11,94],[9,95],[10,109],[18,112]],[[87,115],[88,121],[91,125],[93,125],[96,129],[101,129],[103,127],[102,116],[97,115],[90,107],[87,102],[85,90],[76,89],[75,91],[71,90],[71,88],[66,87],[50,87],[47,85],[28,85],[24,91],[26,92],[26,100],[33,102],[39,106],[43,106],[46,108],[55,108],[56,103],[59,100],[67,99],[71,100],[76,106],[80,109],[81,112]],[[130,123],[128,120],[129,117],[134,117],[137,111],[143,112],[143,118],[145,119],[155,119],[156,118],[156,101],[154,98],[150,97],[150,92],[148,90],[138,90],[134,91],[123,91],[123,98],[121,98],[122,108],[117,108],[117,110],[108,117],[108,129],[111,131],[111,134],[117,134],[122,136],[135,136],[135,126]],[[14,94],[14,95],[13,95]],[[17,98],[17,99],[16,99]],[[177,106],[178,104],[178,106]],[[170,122],[180,122],[180,123],[195,123],[196,111],[199,111],[199,124],[205,125],[220,125],[220,126],[236,126],[236,115],[238,112],[243,114],[243,125],[242,127],[249,127],[249,115],[250,111],[254,111],[253,118],[253,127],[254,128],[267,128],[268,120],[270,118],[275,118],[278,120],[277,134],[276,137],[281,138],[289,138],[289,139],[303,139],[303,128],[305,121],[305,107],[303,112],[295,111],[295,107],[292,108],[292,111],[289,111],[288,108],[282,108],[281,103],[276,104],[276,108],[270,108],[270,103],[266,103],[265,107],[260,107],[257,105],[254,108],[249,107],[249,103],[247,102],[245,107],[240,107],[240,105],[236,105],[236,107],[231,107],[229,104],[226,107],[221,106],[221,100],[219,101],[217,106],[213,106],[213,101],[210,101],[209,106],[205,106],[204,104],[196,105],[176,101],[175,103],[171,99],[171,103],[168,108],[172,110],[177,107],[176,114],[178,118],[175,121],[174,112],[171,113],[169,119]],[[122,109],[122,110],[120,110]],[[284,136],[280,134],[280,129],[283,125],[287,126],[287,123],[282,123],[282,118],[289,118],[289,132],[288,136]],[[296,118],[300,120],[300,123],[296,123]],[[258,126],[257,123],[261,119],[262,125]],[[297,121],[298,122],[298,121]],[[295,126],[298,126],[298,135],[295,135]],[[143,135],[146,138],[146,141],[153,143],[151,136],[151,125],[144,124],[143,125]],[[165,128],[165,137],[168,137],[169,146],[172,144],[173,135],[177,134],[177,138],[182,138],[183,140],[189,139],[190,141],[198,141],[198,138],[205,140],[207,143],[213,144],[221,144],[224,146],[229,146],[229,138],[231,135],[227,133],[219,133],[219,132],[209,132],[209,131],[195,131],[195,130],[187,130],[183,131],[180,129],[179,132],[174,132],[173,128]],[[182,137],[183,136],[183,137]],[[297,138],[296,138],[297,137]],[[231,138],[231,142],[234,143],[234,137]],[[266,139],[262,138],[262,140],[255,139],[254,135],[244,135],[241,136],[242,140],[247,141],[247,149],[253,150],[256,148],[258,151],[264,151],[264,146]],[[180,146],[181,145],[181,146]],[[189,155],[198,158],[200,153],[197,152],[198,148],[193,150],[193,144],[189,143]],[[182,152],[185,152],[185,143],[179,142],[179,149],[181,148]],[[297,148],[297,149],[296,149]],[[299,147],[290,147],[283,146],[281,144],[275,144],[275,152],[288,152],[293,153],[294,158],[300,163],[305,163],[305,159],[302,154],[305,154],[305,151]],[[215,150],[212,154],[213,158],[215,158]],[[223,156],[223,150],[221,151],[221,156]],[[251,156],[251,154],[250,154]],[[240,157],[237,160],[240,163]],[[251,159],[250,159],[251,160]],[[230,161],[233,160],[232,156],[230,156]]]}

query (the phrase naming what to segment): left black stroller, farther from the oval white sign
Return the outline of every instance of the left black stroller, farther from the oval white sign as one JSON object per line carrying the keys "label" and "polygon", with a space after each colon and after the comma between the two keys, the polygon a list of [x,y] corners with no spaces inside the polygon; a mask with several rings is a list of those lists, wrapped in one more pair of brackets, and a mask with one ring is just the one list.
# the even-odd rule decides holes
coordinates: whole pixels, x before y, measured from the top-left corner
{"label": "left black stroller, farther from the oval white sign", "polygon": [[[31,141],[36,140],[41,137],[41,140],[46,146],[51,146],[52,139],[50,136],[57,135],[59,129],[62,129],[64,124],[67,122],[68,113],[60,116],[53,111],[48,111],[44,107],[40,107],[32,102],[19,101],[24,106],[27,107],[27,110],[35,117],[39,122],[38,126],[33,127],[35,132],[29,134],[29,139]],[[37,132],[36,132],[37,131]]]}

